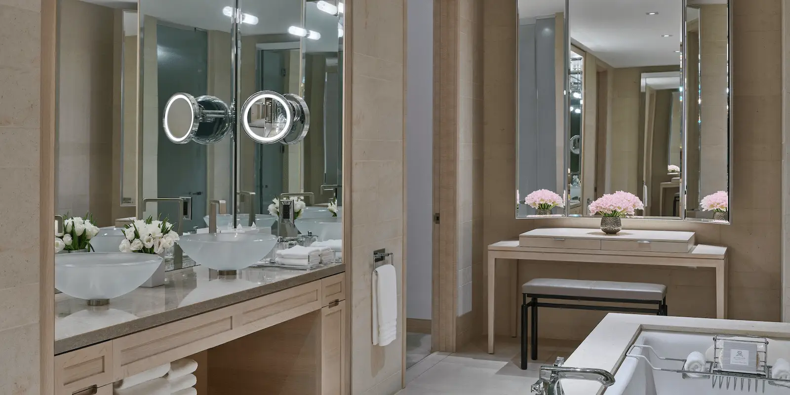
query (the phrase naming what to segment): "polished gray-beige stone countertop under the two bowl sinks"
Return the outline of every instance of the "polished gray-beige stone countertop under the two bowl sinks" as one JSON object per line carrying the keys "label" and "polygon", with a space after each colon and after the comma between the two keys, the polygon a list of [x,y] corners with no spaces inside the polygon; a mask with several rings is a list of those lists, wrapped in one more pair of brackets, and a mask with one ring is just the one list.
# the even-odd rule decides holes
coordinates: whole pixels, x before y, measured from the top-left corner
{"label": "polished gray-beige stone countertop under the two bowl sinks", "polygon": [[55,355],[344,271],[344,264],[335,263],[310,271],[247,268],[236,276],[216,276],[205,266],[195,266],[167,273],[160,287],[137,288],[101,307],[60,293],[55,295]]}

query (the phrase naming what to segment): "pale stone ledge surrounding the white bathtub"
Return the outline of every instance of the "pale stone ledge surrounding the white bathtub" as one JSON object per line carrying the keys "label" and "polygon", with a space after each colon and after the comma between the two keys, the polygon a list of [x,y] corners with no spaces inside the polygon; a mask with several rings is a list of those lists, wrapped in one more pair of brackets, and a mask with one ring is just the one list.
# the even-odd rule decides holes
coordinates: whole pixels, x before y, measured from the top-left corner
{"label": "pale stone ledge surrounding the white bathtub", "polygon": [[[628,348],[642,330],[790,337],[790,323],[784,322],[610,313],[592,330],[563,366],[599,368],[616,374]],[[566,395],[593,395],[604,392],[604,387],[600,384],[582,380],[563,380],[562,389]]]}

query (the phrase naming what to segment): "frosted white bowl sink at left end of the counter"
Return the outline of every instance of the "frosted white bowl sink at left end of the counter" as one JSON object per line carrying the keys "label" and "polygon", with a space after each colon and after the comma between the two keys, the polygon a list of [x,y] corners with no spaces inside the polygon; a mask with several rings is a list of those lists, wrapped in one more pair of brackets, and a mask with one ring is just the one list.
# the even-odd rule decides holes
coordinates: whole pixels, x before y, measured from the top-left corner
{"label": "frosted white bowl sink at left end of the counter", "polygon": [[55,255],[55,288],[66,295],[104,301],[134,291],[162,264],[152,254],[85,252]]}

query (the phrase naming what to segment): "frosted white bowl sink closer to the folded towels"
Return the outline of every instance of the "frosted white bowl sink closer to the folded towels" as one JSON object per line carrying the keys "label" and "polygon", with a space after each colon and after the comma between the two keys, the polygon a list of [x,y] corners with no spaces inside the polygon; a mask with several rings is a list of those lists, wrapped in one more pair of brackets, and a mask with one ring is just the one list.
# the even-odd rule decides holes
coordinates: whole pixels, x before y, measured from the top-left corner
{"label": "frosted white bowl sink closer to the folded towels", "polygon": [[183,235],[176,243],[184,254],[209,269],[240,270],[269,254],[277,238],[259,233],[203,233]]}

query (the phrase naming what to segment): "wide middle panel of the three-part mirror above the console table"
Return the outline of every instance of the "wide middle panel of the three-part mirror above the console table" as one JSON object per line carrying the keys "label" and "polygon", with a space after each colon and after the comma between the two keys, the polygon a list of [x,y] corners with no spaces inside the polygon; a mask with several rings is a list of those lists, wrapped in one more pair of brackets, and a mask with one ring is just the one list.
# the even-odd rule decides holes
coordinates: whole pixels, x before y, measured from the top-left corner
{"label": "wide middle panel of the three-part mirror above the console table", "polygon": [[673,100],[682,86],[683,8],[649,3],[634,17],[617,2],[569,2],[570,137],[581,130],[580,158],[569,144],[572,215],[590,216],[592,201],[622,190],[643,201],[636,216],[680,216],[683,111]]}

